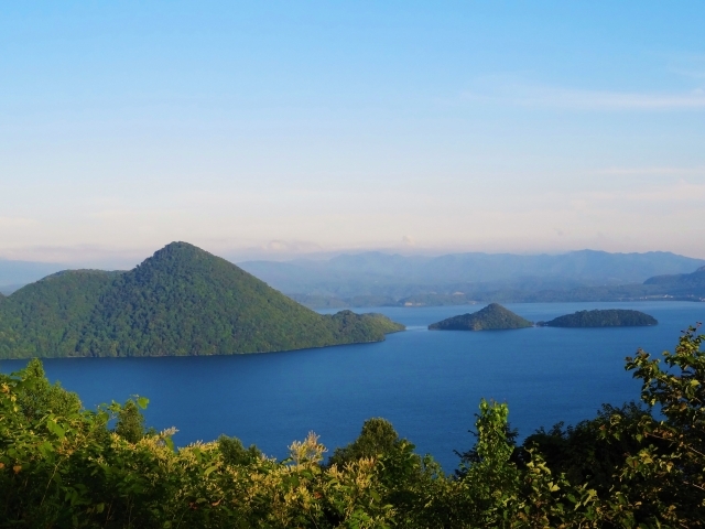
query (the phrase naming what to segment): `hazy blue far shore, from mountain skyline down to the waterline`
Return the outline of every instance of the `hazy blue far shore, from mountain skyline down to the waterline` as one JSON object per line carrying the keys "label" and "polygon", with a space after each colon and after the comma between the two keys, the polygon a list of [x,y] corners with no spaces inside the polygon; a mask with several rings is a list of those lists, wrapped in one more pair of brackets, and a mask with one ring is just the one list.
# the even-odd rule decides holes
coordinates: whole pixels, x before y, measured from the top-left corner
{"label": "hazy blue far shore, from mountain skyline down to the waterline", "polygon": [[441,257],[366,252],[319,261],[248,261],[240,266],[308,306],[343,307],[695,299],[702,295],[687,288],[671,294],[675,283],[664,288],[665,283],[644,281],[655,276],[687,274],[705,266],[705,260],[660,251]]}

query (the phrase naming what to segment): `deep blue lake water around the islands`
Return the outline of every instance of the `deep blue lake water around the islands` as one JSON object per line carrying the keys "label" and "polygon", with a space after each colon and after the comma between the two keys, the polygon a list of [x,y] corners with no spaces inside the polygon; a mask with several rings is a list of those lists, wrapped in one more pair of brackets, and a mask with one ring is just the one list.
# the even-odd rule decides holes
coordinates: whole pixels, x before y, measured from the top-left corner
{"label": "deep blue lake water around the islands", "polygon": [[[643,311],[659,325],[426,330],[481,306],[358,311],[382,312],[408,326],[378,344],[239,356],[47,359],[44,366],[86,408],[149,397],[148,424],[176,427],[178,445],[225,433],[283,457],[308,431],[333,449],[352,441],[366,419],[383,417],[449,472],[458,461],[453,451],[474,442],[467,430],[480,398],[508,402],[522,438],[541,425],[593,418],[603,402],[638,400],[640,386],[623,369],[626,356],[639,347],[673,350],[681,331],[705,319],[703,303],[518,303],[507,307],[531,321],[614,307]],[[0,370],[24,364],[3,360]]]}

